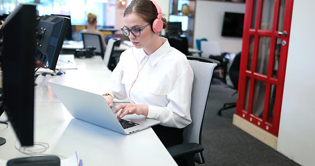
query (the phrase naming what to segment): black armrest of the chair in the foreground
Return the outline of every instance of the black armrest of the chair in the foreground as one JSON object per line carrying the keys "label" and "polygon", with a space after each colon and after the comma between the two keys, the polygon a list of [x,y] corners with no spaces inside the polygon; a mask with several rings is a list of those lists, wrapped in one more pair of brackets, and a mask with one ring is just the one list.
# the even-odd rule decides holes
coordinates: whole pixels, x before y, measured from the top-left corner
{"label": "black armrest of the chair in the foreground", "polygon": [[168,147],[168,152],[173,158],[181,156],[195,155],[198,152],[204,151],[204,147],[197,143],[184,143]]}

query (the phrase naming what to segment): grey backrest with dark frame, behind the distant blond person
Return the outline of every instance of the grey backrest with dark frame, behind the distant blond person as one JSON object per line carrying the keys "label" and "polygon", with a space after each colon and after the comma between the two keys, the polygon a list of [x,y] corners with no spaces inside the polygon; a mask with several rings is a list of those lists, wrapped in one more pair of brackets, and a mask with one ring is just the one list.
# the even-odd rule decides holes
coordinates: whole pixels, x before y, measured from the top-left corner
{"label": "grey backrest with dark frame, behind the distant blond person", "polygon": [[100,55],[102,59],[104,58],[104,48],[102,46],[102,37],[100,37],[100,35],[93,33],[82,33],[82,39],[84,48],[95,46],[95,54]]}

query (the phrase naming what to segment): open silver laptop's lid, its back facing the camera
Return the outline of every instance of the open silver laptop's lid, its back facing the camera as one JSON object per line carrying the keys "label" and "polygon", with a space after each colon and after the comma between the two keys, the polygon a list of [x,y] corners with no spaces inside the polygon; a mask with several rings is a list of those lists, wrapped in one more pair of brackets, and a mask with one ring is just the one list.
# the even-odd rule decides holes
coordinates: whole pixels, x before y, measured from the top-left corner
{"label": "open silver laptop's lid, its back facing the camera", "polygon": [[125,134],[114,112],[102,95],[48,82],[71,116]]}

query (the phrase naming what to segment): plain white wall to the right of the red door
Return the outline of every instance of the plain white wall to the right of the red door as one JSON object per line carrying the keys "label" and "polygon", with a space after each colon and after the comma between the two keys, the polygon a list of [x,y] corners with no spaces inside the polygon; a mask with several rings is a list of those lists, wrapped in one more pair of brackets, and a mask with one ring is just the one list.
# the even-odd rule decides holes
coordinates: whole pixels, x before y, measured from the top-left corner
{"label": "plain white wall to the right of the red door", "polygon": [[300,165],[315,163],[315,1],[294,1],[278,151]]}

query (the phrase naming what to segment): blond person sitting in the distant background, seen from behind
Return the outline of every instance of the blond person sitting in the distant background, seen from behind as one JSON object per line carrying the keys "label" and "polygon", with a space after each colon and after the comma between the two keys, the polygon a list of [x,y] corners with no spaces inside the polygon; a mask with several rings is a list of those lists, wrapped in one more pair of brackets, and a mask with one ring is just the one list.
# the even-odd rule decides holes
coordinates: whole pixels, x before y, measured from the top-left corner
{"label": "blond person sitting in the distant background, seen from behind", "polygon": [[105,37],[104,37],[104,34],[96,30],[97,24],[98,24],[98,20],[97,20],[96,15],[89,12],[89,14],[87,14],[87,29],[82,30],[82,33],[93,33],[96,35],[100,35],[100,39],[102,39],[103,50],[105,51],[106,50]]}

